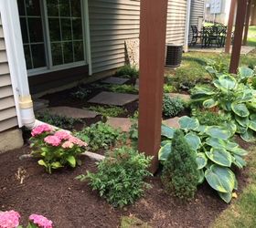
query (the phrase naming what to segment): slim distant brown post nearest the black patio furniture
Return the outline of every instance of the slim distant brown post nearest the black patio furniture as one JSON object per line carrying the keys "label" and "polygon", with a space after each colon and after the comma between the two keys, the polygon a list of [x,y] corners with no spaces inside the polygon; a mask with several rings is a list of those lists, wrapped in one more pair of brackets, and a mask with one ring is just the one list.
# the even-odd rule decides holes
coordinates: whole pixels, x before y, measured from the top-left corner
{"label": "slim distant brown post nearest the black patio furniture", "polygon": [[229,51],[230,51],[236,5],[237,5],[237,0],[231,0],[230,11],[229,11],[228,30],[227,30],[227,37],[226,37],[226,44],[225,44],[225,53],[227,53],[227,54],[229,54]]}

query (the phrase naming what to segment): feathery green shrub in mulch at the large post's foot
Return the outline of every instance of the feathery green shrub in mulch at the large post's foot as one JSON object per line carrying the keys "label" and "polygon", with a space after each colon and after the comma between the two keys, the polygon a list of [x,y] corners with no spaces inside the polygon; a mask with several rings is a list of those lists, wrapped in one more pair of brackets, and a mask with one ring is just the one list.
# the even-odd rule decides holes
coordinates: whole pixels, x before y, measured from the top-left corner
{"label": "feathery green shrub in mulch at the large post's foot", "polygon": [[144,193],[144,187],[149,185],[144,178],[150,176],[147,170],[151,158],[129,147],[122,147],[108,153],[103,161],[98,163],[96,173],[87,172],[80,175],[80,181],[89,180],[93,190],[99,191],[115,207],[133,203]]}

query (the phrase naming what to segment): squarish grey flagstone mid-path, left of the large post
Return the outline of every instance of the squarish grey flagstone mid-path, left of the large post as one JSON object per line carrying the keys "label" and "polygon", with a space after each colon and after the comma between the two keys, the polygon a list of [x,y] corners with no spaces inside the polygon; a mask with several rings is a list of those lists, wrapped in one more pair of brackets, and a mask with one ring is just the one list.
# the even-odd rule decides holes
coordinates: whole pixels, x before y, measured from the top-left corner
{"label": "squarish grey flagstone mid-path, left of the large post", "polygon": [[101,92],[88,102],[102,105],[123,106],[138,99],[138,95],[128,93]]}

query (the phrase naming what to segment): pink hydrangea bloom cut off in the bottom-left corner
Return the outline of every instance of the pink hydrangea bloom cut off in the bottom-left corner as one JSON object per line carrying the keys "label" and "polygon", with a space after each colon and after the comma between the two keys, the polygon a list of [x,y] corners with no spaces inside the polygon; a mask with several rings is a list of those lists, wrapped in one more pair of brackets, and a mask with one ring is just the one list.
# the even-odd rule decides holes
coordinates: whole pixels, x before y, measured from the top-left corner
{"label": "pink hydrangea bloom cut off in the bottom-left corner", "polygon": [[16,228],[19,225],[18,212],[0,212],[0,228]]}

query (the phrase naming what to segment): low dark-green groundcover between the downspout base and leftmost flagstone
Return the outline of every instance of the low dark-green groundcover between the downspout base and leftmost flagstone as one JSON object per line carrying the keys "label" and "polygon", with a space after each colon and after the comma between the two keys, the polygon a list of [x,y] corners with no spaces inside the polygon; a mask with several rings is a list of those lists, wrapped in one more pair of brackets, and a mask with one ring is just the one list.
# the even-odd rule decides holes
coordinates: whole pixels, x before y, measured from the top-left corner
{"label": "low dark-green groundcover between the downspout base and leftmost flagstone", "polygon": [[60,129],[72,130],[75,123],[82,122],[81,119],[73,119],[65,116],[59,116],[49,113],[48,111],[38,112],[36,118]]}

